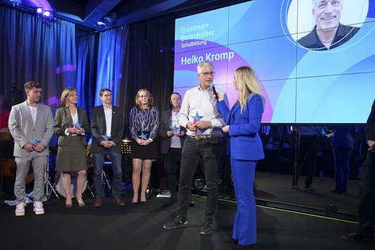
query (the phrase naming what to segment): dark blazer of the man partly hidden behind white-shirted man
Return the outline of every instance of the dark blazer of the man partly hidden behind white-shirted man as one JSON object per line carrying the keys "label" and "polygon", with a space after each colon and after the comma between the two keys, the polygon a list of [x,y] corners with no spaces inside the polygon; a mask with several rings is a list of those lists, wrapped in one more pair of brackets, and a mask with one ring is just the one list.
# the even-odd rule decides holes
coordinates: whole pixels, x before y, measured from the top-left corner
{"label": "dark blazer of the man partly hidden behind white-shirted man", "polygon": [[[161,137],[161,154],[167,154],[169,148],[171,147],[172,137],[168,137],[166,132],[171,131],[171,117],[172,117],[172,109],[168,109],[161,113],[161,120],[160,120],[160,127],[159,127],[159,135]],[[180,126],[180,130],[183,131],[185,127]],[[185,134],[186,136],[186,134]],[[183,142],[185,137],[180,137],[181,148],[183,147]]]}

